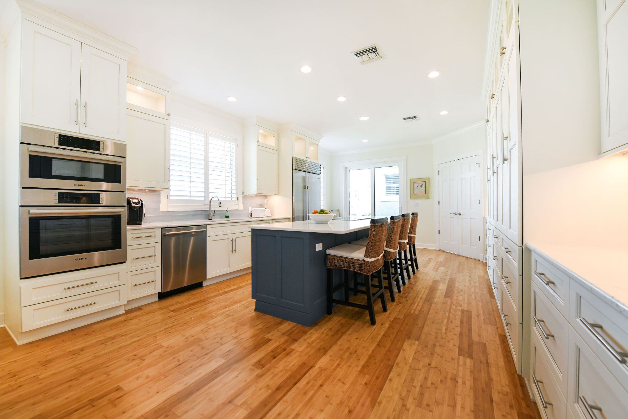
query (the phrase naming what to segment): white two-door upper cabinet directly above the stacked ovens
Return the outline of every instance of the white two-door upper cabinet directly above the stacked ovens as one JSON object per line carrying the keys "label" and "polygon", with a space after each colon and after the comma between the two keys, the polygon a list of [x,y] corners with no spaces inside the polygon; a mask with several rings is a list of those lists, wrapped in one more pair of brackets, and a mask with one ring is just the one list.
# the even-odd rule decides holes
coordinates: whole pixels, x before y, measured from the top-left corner
{"label": "white two-door upper cabinet directly above the stacked ovens", "polygon": [[126,61],[23,21],[21,122],[125,139]]}

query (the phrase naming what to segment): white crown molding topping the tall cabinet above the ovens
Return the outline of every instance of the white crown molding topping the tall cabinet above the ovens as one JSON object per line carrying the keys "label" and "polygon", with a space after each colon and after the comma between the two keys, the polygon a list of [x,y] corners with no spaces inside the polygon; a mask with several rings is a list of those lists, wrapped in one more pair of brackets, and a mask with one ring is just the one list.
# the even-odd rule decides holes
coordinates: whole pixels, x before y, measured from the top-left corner
{"label": "white crown molding topping the tall cabinet above the ovens", "polygon": [[121,59],[128,61],[131,55],[138,52],[138,48],[132,47],[131,45],[97,31],[94,28],[90,28],[89,26],[75,21],[72,18],[68,18],[65,14],[48,9],[39,3],[35,3],[33,0],[9,1],[15,1],[23,13],[29,14],[30,16],[33,16],[33,18],[62,29],[62,33],[63,31],[67,31],[76,34],[83,38],[80,40],[81,42],[85,41],[85,43],[90,44],[93,47],[101,45],[104,47],[102,48],[103,50],[107,50],[107,52],[111,52],[113,55],[116,55]]}

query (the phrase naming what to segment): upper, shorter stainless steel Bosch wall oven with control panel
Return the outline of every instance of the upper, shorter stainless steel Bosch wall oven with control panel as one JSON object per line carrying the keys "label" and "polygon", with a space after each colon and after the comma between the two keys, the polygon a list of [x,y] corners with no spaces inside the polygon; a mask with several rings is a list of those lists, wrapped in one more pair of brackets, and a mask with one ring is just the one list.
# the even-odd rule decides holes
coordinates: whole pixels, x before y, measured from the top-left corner
{"label": "upper, shorter stainless steel Bosch wall oven with control panel", "polygon": [[22,126],[19,186],[126,191],[126,145]]}

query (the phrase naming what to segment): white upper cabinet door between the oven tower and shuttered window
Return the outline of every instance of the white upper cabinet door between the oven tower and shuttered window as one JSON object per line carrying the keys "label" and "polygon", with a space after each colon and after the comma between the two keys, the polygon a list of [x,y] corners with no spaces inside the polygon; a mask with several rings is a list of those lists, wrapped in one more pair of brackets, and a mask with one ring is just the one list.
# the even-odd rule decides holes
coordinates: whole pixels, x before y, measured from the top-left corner
{"label": "white upper cabinet door between the oven tower and shuttered window", "polygon": [[170,121],[127,109],[126,143],[127,186],[168,189]]}

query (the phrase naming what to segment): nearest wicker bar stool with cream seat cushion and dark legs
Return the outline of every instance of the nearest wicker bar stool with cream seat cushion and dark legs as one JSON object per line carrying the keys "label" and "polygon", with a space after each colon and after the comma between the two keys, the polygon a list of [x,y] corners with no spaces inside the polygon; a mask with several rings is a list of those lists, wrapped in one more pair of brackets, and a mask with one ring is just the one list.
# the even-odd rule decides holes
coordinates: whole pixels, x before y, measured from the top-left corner
{"label": "nearest wicker bar stool with cream seat cushion and dark legs", "polygon": [[[333,303],[342,304],[355,308],[362,308],[369,311],[371,324],[375,324],[375,306],[373,300],[379,297],[382,310],[387,311],[386,298],[384,297],[384,282],[382,275],[379,275],[377,291],[372,290],[372,274],[380,271],[384,265],[384,240],[388,226],[387,218],[376,218],[371,220],[369,229],[369,240],[366,247],[345,243],[327,249],[327,314],[332,314]],[[344,282],[338,286],[333,286],[333,270],[344,269]],[[357,289],[354,282],[354,292],[366,295],[366,304],[357,304],[349,301],[349,271],[364,275],[364,290]],[[343,289],[345,299],[333,298],[333,293]]]}

